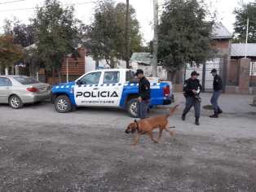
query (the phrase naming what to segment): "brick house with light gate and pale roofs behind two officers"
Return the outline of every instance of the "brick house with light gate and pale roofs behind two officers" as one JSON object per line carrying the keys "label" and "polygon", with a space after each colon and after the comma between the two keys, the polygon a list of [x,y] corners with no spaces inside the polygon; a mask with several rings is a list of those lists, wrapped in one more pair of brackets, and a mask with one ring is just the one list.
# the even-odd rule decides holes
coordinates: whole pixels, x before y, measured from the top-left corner
{"label": "brick house with light gate and pale roofs behind two officers", "polygon": [[[227,94],[256,94],[256,44],[247,45],[245,59],[245,44],[232,44],[232,33],[223,24],[214,27],[214,48],[218,54],[214,59],[202,63],[198,68],[187,65],[179,75],[179,82],[190,77],[192,71],[201,74],[199,79],[204,91],[212,91],[212,68],[218,70],[223,78],[223,92]],[[182,91],[182,83],[174,85],[176,91]]]}

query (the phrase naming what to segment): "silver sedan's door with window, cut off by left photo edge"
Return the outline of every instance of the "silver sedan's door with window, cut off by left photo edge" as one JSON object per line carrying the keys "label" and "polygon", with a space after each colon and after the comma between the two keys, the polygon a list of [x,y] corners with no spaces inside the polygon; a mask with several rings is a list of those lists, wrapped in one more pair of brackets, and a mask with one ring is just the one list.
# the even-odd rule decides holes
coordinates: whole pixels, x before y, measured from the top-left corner
{"label": "silver sedan's door with window, cut off by left photo edge", "polygon": [[8,103],[11,93],[11,81],[6,77],[0,77],[0,103]]}

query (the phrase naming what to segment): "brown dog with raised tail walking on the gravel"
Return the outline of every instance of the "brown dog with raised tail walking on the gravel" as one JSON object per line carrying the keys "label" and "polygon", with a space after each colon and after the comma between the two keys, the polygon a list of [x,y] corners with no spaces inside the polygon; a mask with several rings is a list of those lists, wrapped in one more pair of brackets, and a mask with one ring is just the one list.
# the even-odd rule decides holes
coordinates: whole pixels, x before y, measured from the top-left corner
{"label": "brown dog with raised tail walking on the gravel", "polygon": [[[147,133],[148,136],[152,139],[153,142],[158,143],[161,138],[161,133],[165,129],[170,133],[170,137],[174,137],[174,131],[170,130],[168,117],[174,114],[174,111],[179,105],[170,109],[170,113],[168,115],[163,116],[155,116],[143,120],[135,120],[135,122],[130,123],[126,129],[126,133],[135,133],[137,131],[137,136],[135,137],[135,142],[132,144],[135,146],[139,142],[139,137],[142,134]],[[152,130],[159,129],[158,141],[153,137]]]}

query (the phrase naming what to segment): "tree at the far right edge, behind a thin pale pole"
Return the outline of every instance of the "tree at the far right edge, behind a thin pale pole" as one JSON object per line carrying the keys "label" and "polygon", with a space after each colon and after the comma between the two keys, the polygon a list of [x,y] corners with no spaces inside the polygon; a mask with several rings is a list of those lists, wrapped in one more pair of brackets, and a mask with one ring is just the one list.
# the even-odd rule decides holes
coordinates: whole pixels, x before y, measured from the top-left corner
{"label": "tree at the far right edge, behind a thin pale pole", "polygon": [[256,2],[249,2],[236,8],[234,11],[236,15],[235,22],[235,40],[236,42],[245,42],[247,19],[249,18],[249,34],[248,42],[256,42]]}

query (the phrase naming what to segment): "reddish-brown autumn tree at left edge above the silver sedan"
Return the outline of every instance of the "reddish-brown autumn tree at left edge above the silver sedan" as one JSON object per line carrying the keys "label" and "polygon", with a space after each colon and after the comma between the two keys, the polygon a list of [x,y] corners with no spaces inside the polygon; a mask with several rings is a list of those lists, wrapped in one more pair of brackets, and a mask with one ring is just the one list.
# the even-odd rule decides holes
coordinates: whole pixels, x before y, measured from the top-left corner
{"label": "reddish-brown autumn tree at left edge above the silver sedan", "polygon": [[22,51],[22,47],[14,43],[11,35],[0,36],[0,67],[5,67],[6,69],[13,67],[15,63],[22,59]]}

